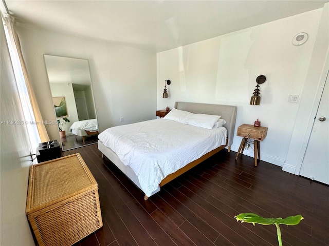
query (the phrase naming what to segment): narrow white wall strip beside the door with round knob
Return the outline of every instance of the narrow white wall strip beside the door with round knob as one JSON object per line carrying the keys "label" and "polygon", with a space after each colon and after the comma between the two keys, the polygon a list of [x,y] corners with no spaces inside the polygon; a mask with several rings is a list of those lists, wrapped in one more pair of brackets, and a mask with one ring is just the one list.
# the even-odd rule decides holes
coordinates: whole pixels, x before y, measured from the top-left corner
{"label": "narrow white wall strip beside the door with round knob", "polygon": [[307,71],[303,96],[283,169],[299,174],[329,71],[329,3],[323,7],[320,25]]}

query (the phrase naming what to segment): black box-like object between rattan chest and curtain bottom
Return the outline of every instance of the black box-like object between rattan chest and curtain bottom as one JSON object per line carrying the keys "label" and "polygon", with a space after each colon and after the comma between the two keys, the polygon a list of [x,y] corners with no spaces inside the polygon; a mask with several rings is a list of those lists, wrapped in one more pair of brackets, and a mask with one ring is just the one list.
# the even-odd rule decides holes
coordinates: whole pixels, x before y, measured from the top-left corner
{"label": "black box-like object between rattan chest and curtain bottom", "polygon": [[57,140],[41,142],[36,149],[36,159],[39,163],[59,157],[62,157],[62,154]]}

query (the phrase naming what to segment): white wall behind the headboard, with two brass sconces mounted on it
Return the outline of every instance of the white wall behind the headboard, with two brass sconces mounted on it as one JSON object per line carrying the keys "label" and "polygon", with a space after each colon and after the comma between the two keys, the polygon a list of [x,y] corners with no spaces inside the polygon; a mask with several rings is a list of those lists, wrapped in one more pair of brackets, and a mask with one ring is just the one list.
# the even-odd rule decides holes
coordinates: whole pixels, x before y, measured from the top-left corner
{"label": "white wall behind the headboard, with two brass sconces mounted on it", "polygon": [[[172,108],[175,101],[235,105],[235,128],[259,119],[268,127],[262,160],[283,166],[321,14],[318,9],[158,53],[157,109]],[[308,41],[296,47],[291,39],[299,32],[308,33]],[[261,104],[251,106],[255,79],[261,74],[267,78],[260,86]],[[169,98],[163,99],[166,79],[171,85]],[[288,103],[289,94],[299,95],[298,103]],[[303,99],[313,100],[312,95]],[[241,140],[234,137],[233,151]],[[253,151],[244,154],[253,156]]]}

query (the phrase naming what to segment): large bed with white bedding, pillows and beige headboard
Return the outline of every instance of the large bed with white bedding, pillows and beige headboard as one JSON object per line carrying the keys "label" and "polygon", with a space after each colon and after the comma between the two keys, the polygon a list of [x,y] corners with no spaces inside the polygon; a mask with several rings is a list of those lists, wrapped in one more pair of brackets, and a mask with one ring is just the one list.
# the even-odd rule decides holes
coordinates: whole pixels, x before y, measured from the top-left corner
{"label": "large bed with white bedding, pillows and beige headboard", "polygon": [[[176,102],[173,111],[187,112],[189,117],[192,116],[190,118],[199,114],[221,116],[225,124],[212,129],[199,127],[178,122],[181,118],[188,118],[185,115],[172,120],[170,112],[160,119],[108,128],[98,136],[98,149],[103,156],[143,191],[145,200],[157,193],[161,186],[218,151],[226,147],[230,151],[233,142],[235,106]],[[163,163],[170,165],[163,168]]]}

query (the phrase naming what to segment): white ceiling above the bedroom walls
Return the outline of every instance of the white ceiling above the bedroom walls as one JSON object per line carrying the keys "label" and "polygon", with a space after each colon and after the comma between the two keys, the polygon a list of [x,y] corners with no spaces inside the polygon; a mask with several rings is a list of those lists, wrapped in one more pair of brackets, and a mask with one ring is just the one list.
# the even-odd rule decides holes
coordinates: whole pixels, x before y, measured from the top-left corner
{"label": "white ceiling above the bedroom walls", "polygon": [[160,52],[322,8],[325,1],[16,1],[17,22]]}

